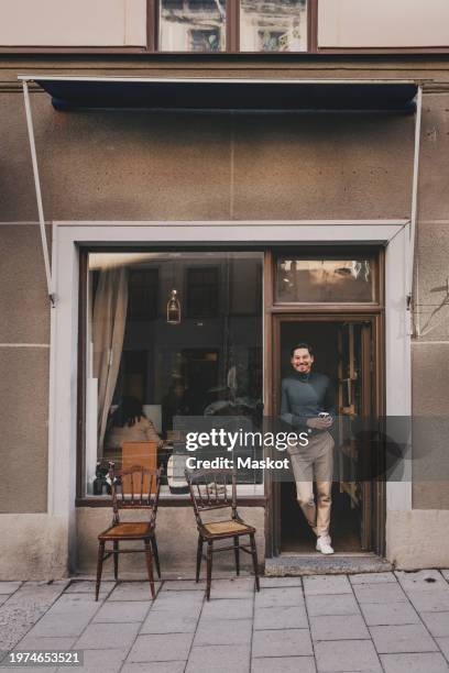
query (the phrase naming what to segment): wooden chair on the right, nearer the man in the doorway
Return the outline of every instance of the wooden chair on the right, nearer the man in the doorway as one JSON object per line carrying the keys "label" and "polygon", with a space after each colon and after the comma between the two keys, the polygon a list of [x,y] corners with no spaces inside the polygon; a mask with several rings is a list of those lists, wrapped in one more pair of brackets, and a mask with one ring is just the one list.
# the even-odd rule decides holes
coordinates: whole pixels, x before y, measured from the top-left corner
{"label": "wooden chair on the right, nearer the man in the doorway", "polygon": [[[186,479],[189,486],[190,499],[194,506],[195,518],[198,528],[198,548],[196,581],[199,582],[201,569],[202,545],[207,542],[207,583],[206,598],[210,599],[210,585],[212,580],[212,554],[216,552],[232,550],[236,558],[236,571],[240,574],[240,550],[251,554],[254,570],[255,588],[260,591],[258,551],[255,547],[255,528],[248,526],[237,511],[237,486],[236,473],[232,470],[200,470],[194,473],[186,470]],[[231,483],[231,494],[229,486]],[[205,522],[201,515],[206,511],[230,509],[230,518],[226,520],[213,520]],[[249,536],[250,545],[240,544],[240,538]],[[233,540],[231,547],[218,547],[213,549],[213,542],[218,540]]]}

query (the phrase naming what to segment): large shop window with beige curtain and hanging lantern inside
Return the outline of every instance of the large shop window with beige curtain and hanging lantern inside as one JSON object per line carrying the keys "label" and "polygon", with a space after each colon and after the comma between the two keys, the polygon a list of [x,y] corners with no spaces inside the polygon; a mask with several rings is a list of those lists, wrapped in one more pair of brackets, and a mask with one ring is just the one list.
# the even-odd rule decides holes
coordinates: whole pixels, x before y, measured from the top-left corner
{"label": "large shop window with beige curtain and hanging lantern inside", "polygon": [[[171,482],[188,455],[179,428],[258,422],[262,266],[251,252],[89,253],[84,495],[107,492],[109,461],[162,465],[163,492],[185,493]],[[173,290],[179,319],[169,322]]]}

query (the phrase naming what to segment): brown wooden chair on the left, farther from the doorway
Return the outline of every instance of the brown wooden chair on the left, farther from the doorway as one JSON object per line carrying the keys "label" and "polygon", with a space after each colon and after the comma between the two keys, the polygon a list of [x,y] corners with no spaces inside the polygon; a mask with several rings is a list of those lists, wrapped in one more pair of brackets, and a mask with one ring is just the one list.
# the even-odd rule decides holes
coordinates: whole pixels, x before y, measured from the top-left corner
{"label": "brown wooden chair on the left, farther from the doorway", "polygon": [[[113,556],[113,576],[116,581],[119,575],[119,554],[131,554],[143,552],[146,559],[151,595],[154,600],[153,555],[156,564],[157,575],[161,580],[161,566],[156,543],[156,514],[161,490],[161,471],[155,468],[132,465],[124,470],[117,470],[113,463],[109,463],[109,479],[112,489],[112,526],[98,536],[98,564],[97,585],[95,599],[101,584],[102,564],[106,559]],[[120,509],[149,509],[149,521],[120,521]],[[120,549],[120,542],[141,540],[144,549]],[[112,543],[112,549],[106,549],[107,543]]]}

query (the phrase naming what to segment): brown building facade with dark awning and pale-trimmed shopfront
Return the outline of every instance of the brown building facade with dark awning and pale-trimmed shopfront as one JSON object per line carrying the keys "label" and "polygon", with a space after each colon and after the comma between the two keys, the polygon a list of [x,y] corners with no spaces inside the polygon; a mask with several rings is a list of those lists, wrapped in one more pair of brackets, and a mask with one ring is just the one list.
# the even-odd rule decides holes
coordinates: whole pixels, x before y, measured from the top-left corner
{"label": "brown building facade with dark awning and pale-trimmed shopfront", "polygon": [[[1,578],[92,571],[124,397],[167,468],[177,416],[277,418],[298,341],[343,420],[414,419],[386,478],[336,482],[339,562],[447,566],[446,3],[34,4],[0,10]],[[161,563],[188,574],[174,490]],[[267,569],[310,561],[291,483],[238,496]]]}

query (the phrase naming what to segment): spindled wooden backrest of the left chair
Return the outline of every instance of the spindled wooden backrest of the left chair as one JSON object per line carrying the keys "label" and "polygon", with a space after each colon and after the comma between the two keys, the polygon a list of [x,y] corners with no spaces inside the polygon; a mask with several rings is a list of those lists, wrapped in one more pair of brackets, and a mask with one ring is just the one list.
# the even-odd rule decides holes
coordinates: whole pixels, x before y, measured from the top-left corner
{"label": "spindled wooden backrest of the left chair", "polygon": [[116,470],[109,463],[108,477],[111,484],[113,523],[120,521],[120,509],[150,509],[151,522],[155,523],[161,492],[161,470],[132,465]]}

